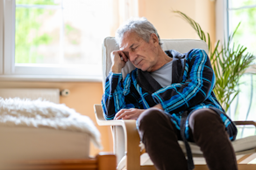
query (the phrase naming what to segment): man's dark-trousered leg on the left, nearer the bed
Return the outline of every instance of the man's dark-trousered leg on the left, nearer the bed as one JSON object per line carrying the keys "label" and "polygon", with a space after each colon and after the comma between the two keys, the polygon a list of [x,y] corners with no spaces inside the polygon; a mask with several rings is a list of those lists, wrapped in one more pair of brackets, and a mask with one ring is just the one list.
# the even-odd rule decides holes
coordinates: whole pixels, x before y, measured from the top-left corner
{"label": "man's dark-trousered leg on the left, nearer the bed", "polygon": [[159,170],[186,170],[188,163],[178,144],[180,132],[164,112],[148,109],[138,119],[139,136]]}

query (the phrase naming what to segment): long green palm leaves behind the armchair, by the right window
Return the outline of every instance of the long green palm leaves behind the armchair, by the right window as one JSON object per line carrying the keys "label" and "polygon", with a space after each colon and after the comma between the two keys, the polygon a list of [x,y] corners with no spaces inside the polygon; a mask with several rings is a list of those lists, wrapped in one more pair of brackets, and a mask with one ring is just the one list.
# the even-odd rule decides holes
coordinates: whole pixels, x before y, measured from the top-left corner
{"label": "long green palm leaves behind the armchair, by the right window", "polygon": [[240,23],[236,30],[229,36],[227,43],[224,42],[221,45],[218,40],[212,50],[209,33],[207,33],[206,38],[204,31],[196,21],[181,11],[174,11],[174,13],[179,14],[185,19],[196,31],[198,37],[208,44],[211,65],[216,75],[216,85],[213,91],[224,110],[227,111],[231,102],[238,95],[237,85],[239,78],[243,75],[246,68],[252,65],[252,61],[255,59],[255,56],[246,51],[245,46],[232,43],[232,38],[236,31],[238,31]]}

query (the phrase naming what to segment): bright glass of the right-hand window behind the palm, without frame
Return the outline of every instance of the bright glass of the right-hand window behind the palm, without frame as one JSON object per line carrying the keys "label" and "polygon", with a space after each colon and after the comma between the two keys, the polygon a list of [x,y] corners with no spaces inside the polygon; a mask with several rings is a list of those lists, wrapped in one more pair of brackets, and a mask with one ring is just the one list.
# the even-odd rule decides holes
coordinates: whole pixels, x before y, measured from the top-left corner
{"label": "bright glass of the right-hand window behind the palm, without frame", "polygon": [[[233,32],[238,27],[234,36],[236,46],[242,44],[247,47],[247,52],[256,55],[256,0],[236,1],[230,0],[229,28]],[[256,61],[254,61],[256,64]],[[256,75],[244,74],[239,79],[239,93],[237,98],[231,103],[229,114],[233,120],[256,120]],[[254,126],[238,126],[239,138],[256,134]]]}

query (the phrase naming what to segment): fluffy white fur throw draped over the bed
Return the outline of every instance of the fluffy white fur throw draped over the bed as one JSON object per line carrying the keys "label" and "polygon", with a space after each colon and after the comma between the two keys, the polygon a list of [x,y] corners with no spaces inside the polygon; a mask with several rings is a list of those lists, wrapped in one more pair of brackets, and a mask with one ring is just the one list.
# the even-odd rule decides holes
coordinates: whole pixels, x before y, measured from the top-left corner
{"label": "fluffy white fur throw draped over the bed", "polygon": [[102,147],[100,133],[88,116],[64,104],[41,99],[0,98],[0,126],[46,127],[88,133],[95,146]]}

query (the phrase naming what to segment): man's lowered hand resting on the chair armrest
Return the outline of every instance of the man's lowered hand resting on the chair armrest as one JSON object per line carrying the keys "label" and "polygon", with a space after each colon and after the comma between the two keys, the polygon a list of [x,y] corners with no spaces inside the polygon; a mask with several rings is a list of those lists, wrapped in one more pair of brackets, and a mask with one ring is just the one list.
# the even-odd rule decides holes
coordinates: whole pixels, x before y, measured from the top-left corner
{"label": "man's lowered hand resting on the chair armrest", "polygon": [[145,109],[122,109],[117,112],[114,119],[138,119],[141,112]]}

